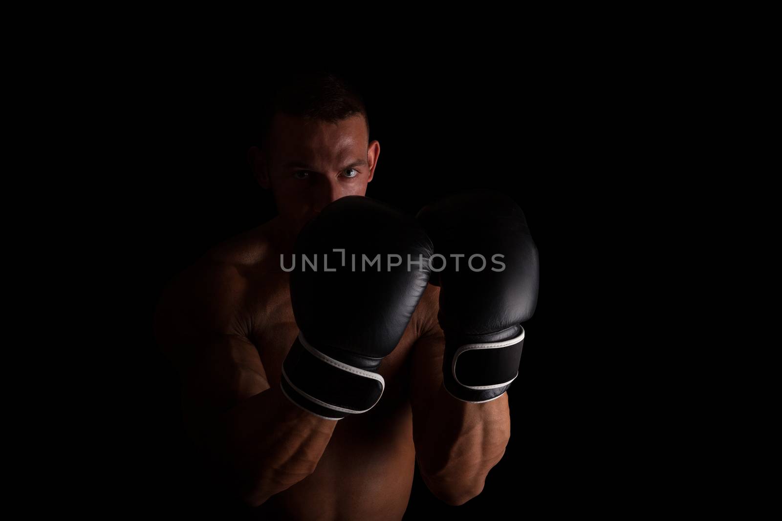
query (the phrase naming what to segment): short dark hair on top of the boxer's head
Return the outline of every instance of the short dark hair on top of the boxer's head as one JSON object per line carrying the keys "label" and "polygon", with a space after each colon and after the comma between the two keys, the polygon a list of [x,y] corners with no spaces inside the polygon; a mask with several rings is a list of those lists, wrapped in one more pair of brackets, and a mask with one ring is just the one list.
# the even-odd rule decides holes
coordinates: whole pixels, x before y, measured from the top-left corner
{"label": "short dark hair on top of the boxer's head", "polygon": [[369,135],[364,98],[346,77],[332,70],[320,69],[284,74],[278,78],[279,83],[273,87],[272,95],[261,112],[257,134],[261,147],[266,148],[269,143],[271,126],[277,112],[328,123],[337,123],[361,114]]}

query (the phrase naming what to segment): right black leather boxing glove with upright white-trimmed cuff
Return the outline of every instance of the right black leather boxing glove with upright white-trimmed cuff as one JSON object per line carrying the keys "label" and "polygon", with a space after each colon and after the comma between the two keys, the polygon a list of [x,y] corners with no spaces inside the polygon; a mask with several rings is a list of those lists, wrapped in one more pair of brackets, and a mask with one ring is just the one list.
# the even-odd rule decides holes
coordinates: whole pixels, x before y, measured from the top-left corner
{"label": "right black leather boxing glove with upright white-trimmed cuff", "polygon": [[518,376],[521,324],[537,303],[538,252],[524,213],[504,194],[476,191],[425,206],[418,222],[435,248],[443,384],[461,401],[499,398]]}

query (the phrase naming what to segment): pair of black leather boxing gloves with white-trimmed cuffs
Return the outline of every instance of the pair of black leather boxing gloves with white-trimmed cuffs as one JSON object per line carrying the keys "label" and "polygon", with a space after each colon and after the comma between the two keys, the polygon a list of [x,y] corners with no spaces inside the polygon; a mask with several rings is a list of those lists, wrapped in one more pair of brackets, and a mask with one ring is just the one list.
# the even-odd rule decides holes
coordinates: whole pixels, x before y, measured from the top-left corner
{"label": "pair of black leather boxing gloves with white-trimmed cuffs", "polygon": [[430,283],[440,287],[446,390],[482,403],[518,376],[538,254],[522,210],[504,194],[451,195],[415,218],[371,198],[339,198],[300,231],[293,262],[300,334],[280,385],[301,408],[343,419],[374,407],[385,387],[380,363]]}

